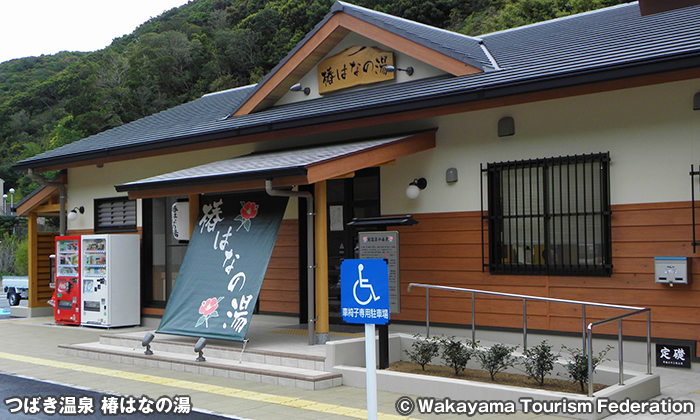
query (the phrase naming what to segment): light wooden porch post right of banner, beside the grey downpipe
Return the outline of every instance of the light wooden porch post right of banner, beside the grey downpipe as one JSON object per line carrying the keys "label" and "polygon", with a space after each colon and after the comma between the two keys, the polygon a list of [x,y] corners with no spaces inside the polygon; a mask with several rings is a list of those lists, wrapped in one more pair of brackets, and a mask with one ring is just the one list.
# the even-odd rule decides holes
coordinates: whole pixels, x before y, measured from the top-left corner
{"label": "light wooden porch post right of banner, beside the grey downpipe", "polygon": [[328,216],[326,181],[315,184],[316,344],[328,341]]}

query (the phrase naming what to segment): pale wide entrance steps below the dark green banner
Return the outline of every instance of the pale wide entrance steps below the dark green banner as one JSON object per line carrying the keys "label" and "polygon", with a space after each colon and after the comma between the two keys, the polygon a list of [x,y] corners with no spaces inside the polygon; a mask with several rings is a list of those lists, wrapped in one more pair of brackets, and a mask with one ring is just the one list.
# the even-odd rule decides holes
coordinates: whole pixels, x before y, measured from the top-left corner
{"label": "pale wide entrance steps below the dark green banner", "polygon": [[[101,337],[100,339],[100,341],[113,340],[116,340],[117,343],[106,344],[94,342],[59,345],[58,351],[60,354],[86,359],[169,369],[200,375],[213,375],[307,390],[327,389],[343,384],[341,374],[315,369],[315,363],[317,361],[315,359],[307,359],[314,358],[314,356],[306,356],[306,358],[304,358],[301,357],[304,355],[288,355],[299,357],[283,358],[279,354],[274,354],[276,352],[256,351],[250,356],[253,358],[257,356],[258,360],[261,360],[260,362],[252,361],[250,358],[248,358],[248,360],[239,361],[240,349],[217,349],[215,348],[217,346],[212,346],[210,349],[210,346],[207,345],[204,350],[206,361],[197,362],[195,360],[197,358],[197,353],[194,352],[193,345],[174,343],[175,345],[173,346],[173,343],[170,343],[168,346],[171,347],[166,347],[166,344],[161,342],[157,343],[160,344],[158,347],[154,345],[151,346],[154,354],[146,355],[144,354],[143,347],[141,347],[140,340],[134,342],[134,340],[130,338],[125,339],[123,336],[119,335],[117,337],[110,337],[109,334],[107,334],[107,337]],[[155,343],[155,341],[156,340],[151,344]],[[184,351],[185,348],[187,351]],[[246,350],[245,353],[248,353],[248,350]],[[260,359],[261,356],[262,359]],[[267,361],[276,363],[268,363]],[[295,366],[289,366],[294,362],[296,362]],[[301,362],[302,366],[306,367],[300,366],[299,362]]]}

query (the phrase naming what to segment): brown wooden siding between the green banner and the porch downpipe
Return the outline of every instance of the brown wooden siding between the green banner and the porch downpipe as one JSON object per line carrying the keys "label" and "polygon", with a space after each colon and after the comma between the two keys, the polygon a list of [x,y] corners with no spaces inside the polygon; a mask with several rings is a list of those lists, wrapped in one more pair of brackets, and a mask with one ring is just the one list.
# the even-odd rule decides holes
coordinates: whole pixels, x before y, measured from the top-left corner
{"label": "brown wooden siding between the green banner and the porch downpipe", "polygon": [[299,313],[299,239],[296,220],[283,220],[260,289],[260,311]]}

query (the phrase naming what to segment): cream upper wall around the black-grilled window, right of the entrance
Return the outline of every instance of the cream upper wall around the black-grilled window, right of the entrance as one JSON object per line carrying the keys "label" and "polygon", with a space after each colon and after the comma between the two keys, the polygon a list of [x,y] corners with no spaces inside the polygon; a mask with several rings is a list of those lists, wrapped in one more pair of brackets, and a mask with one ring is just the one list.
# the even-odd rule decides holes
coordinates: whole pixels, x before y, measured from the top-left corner
{"label": "cream upper wall around the black-grilled window, right of the entrance", "polygon": [[[699,91],[692,80],[440,117],[435,149],[381,168],[382,214],[479,210],[480,163],[607,151],[612,204],[689,201],[690,165],[700,165]],[[505,116],[515,135],[499,138]],[[452,185],[450,167],[459,171]],[[420,177],[428,186],[409,200],[406,187]]]}

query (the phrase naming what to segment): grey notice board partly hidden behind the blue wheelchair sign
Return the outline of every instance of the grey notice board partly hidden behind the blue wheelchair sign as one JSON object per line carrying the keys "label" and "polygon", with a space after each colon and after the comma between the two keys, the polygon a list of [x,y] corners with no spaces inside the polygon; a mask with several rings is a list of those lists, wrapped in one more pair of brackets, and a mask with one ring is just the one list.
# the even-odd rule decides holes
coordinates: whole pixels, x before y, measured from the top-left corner
{"label": "grey notice board partly hidden behind the blue wheelchair sign", "polygon": [[401,313],[399,232],[360,232],[360,258],[385,260],[389,265],[389,302],[392,314]]}

